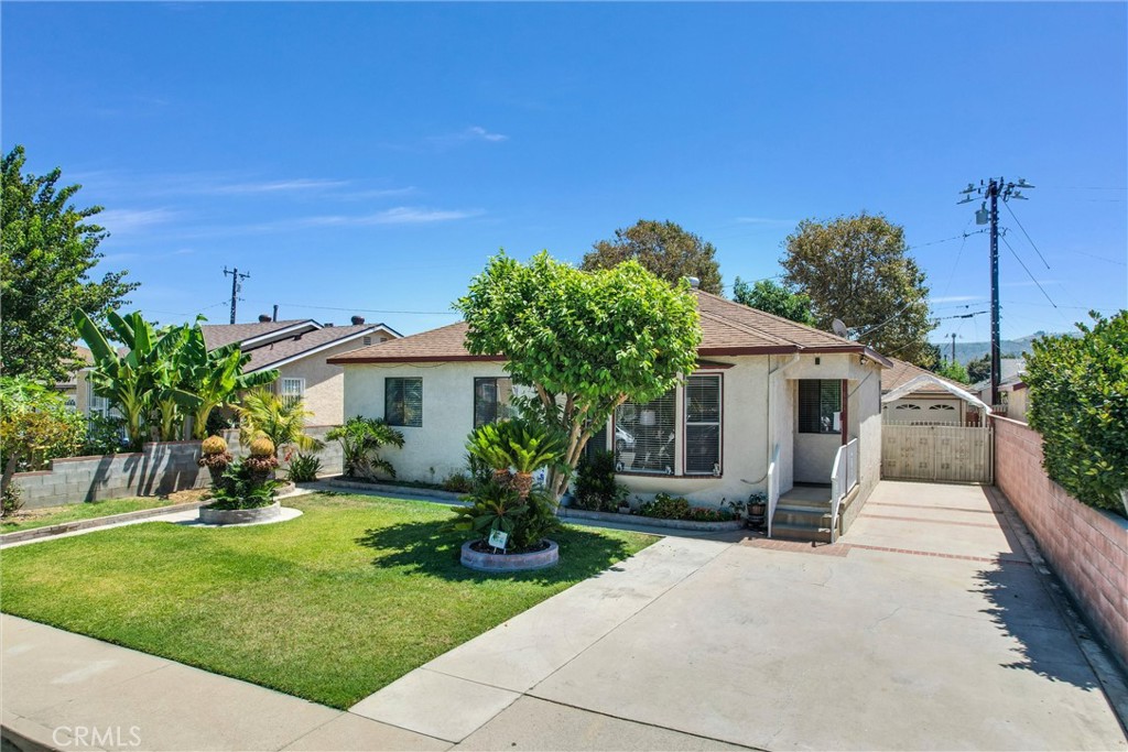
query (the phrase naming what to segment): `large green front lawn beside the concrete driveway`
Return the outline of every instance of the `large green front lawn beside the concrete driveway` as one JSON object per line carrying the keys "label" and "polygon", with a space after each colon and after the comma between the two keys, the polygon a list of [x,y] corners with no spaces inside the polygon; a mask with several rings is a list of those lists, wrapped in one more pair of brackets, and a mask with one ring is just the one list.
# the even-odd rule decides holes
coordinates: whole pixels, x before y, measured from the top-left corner
{"label": "large green front lawn beside the concrete driveway", "polygon": [[558,566],[483,575],[458,563],[448,507],[336,494],[288,506],[305,514],[6,550],[3,611],[346,708],[655,540],[569,527]]}

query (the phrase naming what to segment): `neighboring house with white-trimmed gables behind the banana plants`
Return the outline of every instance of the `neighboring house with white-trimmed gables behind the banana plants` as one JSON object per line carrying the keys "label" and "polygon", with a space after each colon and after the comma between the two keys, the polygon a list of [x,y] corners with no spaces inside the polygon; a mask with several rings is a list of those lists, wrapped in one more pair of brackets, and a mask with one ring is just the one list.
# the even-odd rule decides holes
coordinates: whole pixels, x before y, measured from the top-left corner
{"label": "neighboring house with white-trimmed gables behind the banana plants", "polygon": [[238,343],[250,355],[245,372],[277,369],[274,391],[283,398],[303,399],[312,413],[307,418],[310,425],[338,425],[346,417],[343,369],[327,363],[328,359],[400,336],[385,324],[365,324],[359,316],[351,326],[261,316],[254,324],[204,324],[202,328],[209,350]]}

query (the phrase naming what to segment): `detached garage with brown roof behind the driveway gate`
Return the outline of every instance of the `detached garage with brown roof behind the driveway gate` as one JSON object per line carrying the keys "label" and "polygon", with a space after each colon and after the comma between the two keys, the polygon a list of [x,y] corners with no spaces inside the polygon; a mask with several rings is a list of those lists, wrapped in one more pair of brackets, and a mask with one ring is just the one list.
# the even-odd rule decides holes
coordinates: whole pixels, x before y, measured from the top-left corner
{"label": "detached garage with brown roof behind the driveway gate", "polygon": [[973,388],[890,357],[881,375],[881,414],[885,423],[984,425],[989,410]]}

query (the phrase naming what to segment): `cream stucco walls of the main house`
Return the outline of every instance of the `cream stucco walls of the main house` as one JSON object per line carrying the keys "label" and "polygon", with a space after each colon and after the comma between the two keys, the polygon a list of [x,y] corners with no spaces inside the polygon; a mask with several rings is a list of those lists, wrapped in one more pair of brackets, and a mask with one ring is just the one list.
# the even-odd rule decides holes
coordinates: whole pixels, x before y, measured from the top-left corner
{"label": "cream stucco walls of the main house", "polygon": [[[744,499],[767,489],[773,448],[779,446],[781,490],[795,480],[830,483],[830,466],[841,436],[814,436],[807,442],[795,433],[797,379],[847,379],[849,437],[860,437],[863,490],[876,484],[881,463],[880,366],[865,364],[857,354],[756,355],[710,359],[699,373],[722,378],[721,475],[685,476],[685,426],[675,424],[673,475],[622,474],[620,480],[641,498],[659,492],[686,496],[691,502],[720,504]],[[728,368],[723,368],[728,366]],[[496,362],[350,364],[344,366],[346,415],[384,417],[386,378],[423,379],[423,425],[399,427],[403,449],[385,450],[398,477],[441,481],[465,469],[466,435],[474,421],[474,379],[505,375]],[[677,409],[685,409],[679,387]],[[614,435],[614,434],[613,434]],[[823,446],[822,444],[826,444]],[[869,486],[869,488],[865,488]]]}

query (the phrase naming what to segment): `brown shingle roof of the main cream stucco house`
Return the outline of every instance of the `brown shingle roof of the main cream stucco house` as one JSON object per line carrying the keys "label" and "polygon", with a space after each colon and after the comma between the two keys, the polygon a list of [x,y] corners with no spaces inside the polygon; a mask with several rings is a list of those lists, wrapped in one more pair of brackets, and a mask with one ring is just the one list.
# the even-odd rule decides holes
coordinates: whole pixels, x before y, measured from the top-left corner
{"label": "brown shingle roof of the main cream stucco house", "polygon": [[[698,355],[770,355],[797,352],[865,353],[883,365],[882,355],[849,339],[819,331],[778,316],[748,308],[707,292],[694,291],[700,313]],[[470,355],[465,321],[430,331],[361,347],[329,359],[329,363],[409,363],[446,361],[502,361],[501,356]]]}

